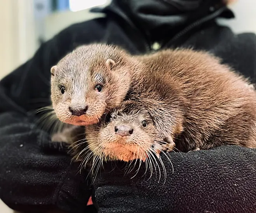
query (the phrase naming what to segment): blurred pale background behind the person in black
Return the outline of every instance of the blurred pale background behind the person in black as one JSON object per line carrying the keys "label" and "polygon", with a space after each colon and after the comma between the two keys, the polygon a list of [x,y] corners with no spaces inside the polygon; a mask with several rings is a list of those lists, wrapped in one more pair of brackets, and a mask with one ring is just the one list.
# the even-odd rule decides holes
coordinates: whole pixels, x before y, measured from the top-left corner
{"label": "blurred pale background behind the person in black", "polygon": [[[33,56],[44,41],[91,14],[94,6],[111,0],[0,0],[0,79]],[[256,33],[256,0],[238,0],[230,5],[236,18],[219,20],[235,33]],[[49,70],[50,71],[50,70]],[[0,201],[0,213],[12,212]]]}

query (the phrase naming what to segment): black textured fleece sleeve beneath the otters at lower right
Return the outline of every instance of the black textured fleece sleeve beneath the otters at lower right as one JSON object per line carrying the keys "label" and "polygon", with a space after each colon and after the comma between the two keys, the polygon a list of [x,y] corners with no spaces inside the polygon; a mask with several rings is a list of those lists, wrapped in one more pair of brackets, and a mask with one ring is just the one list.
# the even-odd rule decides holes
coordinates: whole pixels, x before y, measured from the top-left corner
{"label": "black textured fleece sleeve beneath the otters at lower right", "polygon": [[158,167],[157,177],[154,167],[149,180],[150,171],[143,176],[144,164],[131,179],[134,173],[125,175],[122,163],[106,163],[94,181],[99,213],[256,212],[256,149],[222,146],[167,155],[174,173],[162,156],[167,179],[159,165],[159,183]]}

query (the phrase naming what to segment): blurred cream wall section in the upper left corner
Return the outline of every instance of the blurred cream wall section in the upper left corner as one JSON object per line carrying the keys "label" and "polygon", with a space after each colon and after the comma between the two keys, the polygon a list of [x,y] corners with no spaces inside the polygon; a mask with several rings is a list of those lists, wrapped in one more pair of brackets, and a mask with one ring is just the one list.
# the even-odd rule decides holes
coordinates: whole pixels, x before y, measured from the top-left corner
{"label": "blurred cream wall section in the upper left corner", "polygon": [[0,0],[0,79],[35,51],[33,0]]}

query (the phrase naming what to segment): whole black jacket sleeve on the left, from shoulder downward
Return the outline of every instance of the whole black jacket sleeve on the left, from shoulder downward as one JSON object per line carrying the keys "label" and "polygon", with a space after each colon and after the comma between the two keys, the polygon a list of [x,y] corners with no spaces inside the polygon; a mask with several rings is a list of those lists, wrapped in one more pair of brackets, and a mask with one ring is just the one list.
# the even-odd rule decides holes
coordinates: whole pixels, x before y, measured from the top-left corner
{"label": "whole black jacket sleeve on the left, from shoulder downward", "polygon": [[68,155],[47,148],[51,140],[38,127],[35,110],[51,103],[51,66],[90,42],[84,28],[95,24],[92,20],[64,29],[0,81],[0,199],[10,208],[40,212],[54,205],[85,211],[91,195],[87,175],[79,173],[77,163],[70,164]]}

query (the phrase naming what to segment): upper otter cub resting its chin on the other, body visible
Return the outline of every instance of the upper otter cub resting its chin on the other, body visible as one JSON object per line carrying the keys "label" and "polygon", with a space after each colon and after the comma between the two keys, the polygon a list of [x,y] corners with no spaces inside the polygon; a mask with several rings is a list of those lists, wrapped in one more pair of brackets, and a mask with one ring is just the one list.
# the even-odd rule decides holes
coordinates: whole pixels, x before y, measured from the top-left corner
{"label": "upper otter cub resting its chin on the other, body visible", "polygon": [[63,122],[97,123],[129,99],[145,106],[169,149],[256,147],[254,89],[208,53],[176,49],[132,56],[93,44],[80,46],[51,72],[52,104]]}

